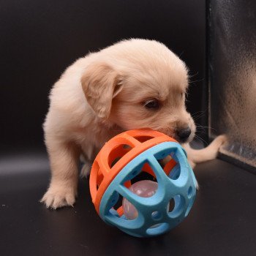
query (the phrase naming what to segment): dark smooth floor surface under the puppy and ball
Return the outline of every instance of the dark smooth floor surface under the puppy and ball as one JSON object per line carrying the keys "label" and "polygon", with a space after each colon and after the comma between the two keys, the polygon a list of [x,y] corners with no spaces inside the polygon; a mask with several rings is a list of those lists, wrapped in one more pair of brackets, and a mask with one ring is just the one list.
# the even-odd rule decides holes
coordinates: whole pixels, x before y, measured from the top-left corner
{"label": "dark smooth floor surface under the puppy and ball", "polygon": [[102,222],[89,181],[74,208],[38,203],[48,186],[46,154],[0,162],[0,255],[256,255],[256,176],[214,160],[195,169],[200,190],[189,217],[156,238],[133,238]]}

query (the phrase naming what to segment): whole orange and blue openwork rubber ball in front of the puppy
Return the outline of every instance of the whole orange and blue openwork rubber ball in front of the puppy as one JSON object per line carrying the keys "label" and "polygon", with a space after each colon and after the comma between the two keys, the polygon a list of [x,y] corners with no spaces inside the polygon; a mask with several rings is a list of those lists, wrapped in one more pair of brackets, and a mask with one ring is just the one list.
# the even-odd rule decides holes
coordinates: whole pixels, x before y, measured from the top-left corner
{"label": "whole orange and blue openwork rubber ball in front of the puppy", "polygon": [[181,145],[151,129],[110,139],[91,168],[91,199],[99,217],[136,237],[176,227],[195,201],[195,176]]}

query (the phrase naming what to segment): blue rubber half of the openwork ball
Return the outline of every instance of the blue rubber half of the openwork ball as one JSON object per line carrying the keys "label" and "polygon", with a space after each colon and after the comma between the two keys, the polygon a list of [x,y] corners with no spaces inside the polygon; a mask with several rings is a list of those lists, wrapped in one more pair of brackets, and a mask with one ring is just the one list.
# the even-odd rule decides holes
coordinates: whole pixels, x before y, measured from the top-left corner
{"label": "blue rubber half of the openwork ball", "polygon": [[[169,176],[166,175],[159,159],[170,155],[175,161]],[[157,192],[151,197],[140,197],[124,186],[148,163],[157,178]],[[113,179],[106,189],[99,206],[99,216],[108,224],[136,237],[158,236],[176,227],[189,214],[195,201],[195,175],[187,162],[184,149],[175,142],[159,143],[148,148],[130,161]],[[119,217],[113,206],[119,197],[125,197],[138,211],[136,219]],[[169,211],[170,201],[174,206]]]}

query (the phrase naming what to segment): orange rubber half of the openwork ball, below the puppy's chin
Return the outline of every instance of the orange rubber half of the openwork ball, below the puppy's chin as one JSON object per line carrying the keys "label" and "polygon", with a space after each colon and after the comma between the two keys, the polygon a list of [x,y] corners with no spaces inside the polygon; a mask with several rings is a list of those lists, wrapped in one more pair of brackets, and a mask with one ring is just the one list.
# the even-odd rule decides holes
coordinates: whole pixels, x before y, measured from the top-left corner
{"label": "orange rubber half of the openwork ball, below the puppy's chin", "polygon": [[[177,142],[173,138],[151,129],[133,129],[123,132],[105,143],[94,160],[89,181],[91,199],[98,214],[102,196],[116,175],[140,153],[166,141]],[[174,160],[168,162],[164,167],[165,173],[168,175],[175,165]],[[149,166],[145,165],[143,170],[154,176]],[[130,181],[125,184],[127,187],[130,185]]]}

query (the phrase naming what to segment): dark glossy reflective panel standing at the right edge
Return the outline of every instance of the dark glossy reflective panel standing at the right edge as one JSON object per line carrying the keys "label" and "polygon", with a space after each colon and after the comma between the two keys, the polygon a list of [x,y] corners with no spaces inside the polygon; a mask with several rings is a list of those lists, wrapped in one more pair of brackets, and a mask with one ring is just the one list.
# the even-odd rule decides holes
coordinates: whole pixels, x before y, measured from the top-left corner
{"label": "dark glossy reflective panel standing at the right edge", "polygon": [[210,138],[222,153],[256,167],[256,1],[208,2]]}

